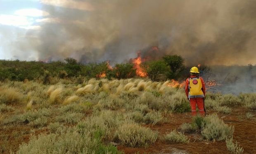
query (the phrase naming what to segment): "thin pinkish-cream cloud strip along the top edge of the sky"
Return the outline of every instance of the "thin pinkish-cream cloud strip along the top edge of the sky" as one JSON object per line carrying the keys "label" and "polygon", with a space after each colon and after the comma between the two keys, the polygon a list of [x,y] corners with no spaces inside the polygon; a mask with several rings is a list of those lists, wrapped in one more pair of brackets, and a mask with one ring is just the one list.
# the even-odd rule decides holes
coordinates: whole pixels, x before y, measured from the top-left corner
{"label": "thin pinkish-cream cloud strip along the top edge of the sky", "polygon": [[66,7],[71,9],[81,9],[85,11],[92,11],[93,7],[88,2],[75,1],[75,0],[40,0],[41,3],[46,5],[54,5],[57,7]]}

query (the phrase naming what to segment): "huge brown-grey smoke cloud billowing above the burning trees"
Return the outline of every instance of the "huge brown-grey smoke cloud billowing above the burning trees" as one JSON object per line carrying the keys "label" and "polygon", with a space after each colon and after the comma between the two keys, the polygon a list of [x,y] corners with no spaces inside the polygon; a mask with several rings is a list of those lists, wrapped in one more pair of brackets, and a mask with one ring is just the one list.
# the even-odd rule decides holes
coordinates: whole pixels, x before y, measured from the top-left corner
{"label": "huge brown-grey smoke cloud billowing above the burning trees", "polygon": [[[74,57],[83,63],[128,62],[140,51],[143,57],[182,55],[188,65],[255,64],[255,0],[86,0],[86,4],[74,9],[60,2],[43,3],[50,19],[40,22],[40,31],[34,32],[39,43],[28,46],[29,51],[39,60]],[[32,44],[34,39],[26,41]]]}

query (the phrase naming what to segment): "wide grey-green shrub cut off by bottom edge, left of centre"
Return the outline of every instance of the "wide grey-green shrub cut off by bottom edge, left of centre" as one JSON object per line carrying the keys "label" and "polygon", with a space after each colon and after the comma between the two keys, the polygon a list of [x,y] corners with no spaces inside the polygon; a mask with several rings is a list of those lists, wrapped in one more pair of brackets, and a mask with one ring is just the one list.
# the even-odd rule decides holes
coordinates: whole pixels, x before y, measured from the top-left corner
{"label": "wide grey-green shrub cut off by bottom edge, left of centre", "polygon": [[17,154],[119,154],[113,145],[103,145],[88,134],[67,130],[60,133],[32,136],[19,146]]}

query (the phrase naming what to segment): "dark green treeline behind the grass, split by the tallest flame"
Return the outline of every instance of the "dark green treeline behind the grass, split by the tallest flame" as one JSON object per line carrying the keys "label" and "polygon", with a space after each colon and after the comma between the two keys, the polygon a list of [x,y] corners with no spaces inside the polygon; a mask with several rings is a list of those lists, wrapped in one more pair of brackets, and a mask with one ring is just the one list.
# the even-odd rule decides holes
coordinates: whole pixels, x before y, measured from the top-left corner
{"label": "dark green treeline behind the grass, split by the tallest flame", "polygon": [[[151,60],[140,64],[141,71],[151,80],[175,79],[187,76],[185,59],[180,55],[166,55],[161,60]],[[186,70],[186,71],[185,71]],[[133,78],[140,77],[133,63],[114,64],[107,62],[81,64],[68,57],[65,62],[36,62],[19,60],[0,60],[0,80],[37,80],[47,83],[49,78]]]}

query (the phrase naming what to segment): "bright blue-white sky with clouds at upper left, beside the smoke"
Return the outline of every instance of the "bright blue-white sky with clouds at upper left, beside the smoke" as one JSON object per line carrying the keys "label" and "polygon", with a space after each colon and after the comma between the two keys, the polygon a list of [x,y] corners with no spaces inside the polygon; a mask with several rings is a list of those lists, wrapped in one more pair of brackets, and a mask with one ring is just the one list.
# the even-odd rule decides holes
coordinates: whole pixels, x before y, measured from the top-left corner
{"label": "bright blue-white sky with clouds at upper left, beside the smoke", "polygon": [[44,7],[91,10],[85,5],[86,2],[75,0],[0,0],[0,59],[40,60],[36,47],[23,46],[28,50],[22,50],[17,44],[37,46],[42,25],[59,22]]}

